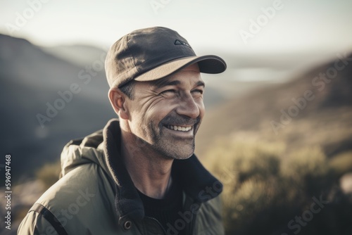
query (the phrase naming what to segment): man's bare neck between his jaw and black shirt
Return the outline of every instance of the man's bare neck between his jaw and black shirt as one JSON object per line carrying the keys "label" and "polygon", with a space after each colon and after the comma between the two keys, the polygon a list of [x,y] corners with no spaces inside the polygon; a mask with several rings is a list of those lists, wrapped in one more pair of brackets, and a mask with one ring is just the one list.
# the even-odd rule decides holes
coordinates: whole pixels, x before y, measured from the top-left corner
{"label": "man's bare neck between his jaw and black shirt", "polygon": [[[124,138],[125,137],[125,138]],[[137,146],[122,134],[121,154],[136,188],[151,198],[164,198],[172,184],[173,159],[163,158],[148,146]]]}

